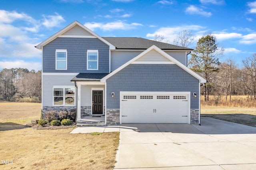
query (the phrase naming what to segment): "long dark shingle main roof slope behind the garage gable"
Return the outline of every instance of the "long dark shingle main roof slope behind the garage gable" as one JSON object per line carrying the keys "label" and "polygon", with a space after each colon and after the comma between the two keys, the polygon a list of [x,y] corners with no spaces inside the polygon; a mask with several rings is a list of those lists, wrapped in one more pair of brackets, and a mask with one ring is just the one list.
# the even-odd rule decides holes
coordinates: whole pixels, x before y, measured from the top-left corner
{"label": "long dark shingle main roof slope behind the garage gable", "polygon": [[180,47],[168,43],[153,41],[150,39],[136,38],[136,37],[102,37],[106,41],[113,44],[116,49],[148,49],[152,45],[156,45],[162,50],[185,50],[192,51],[193,49]]}

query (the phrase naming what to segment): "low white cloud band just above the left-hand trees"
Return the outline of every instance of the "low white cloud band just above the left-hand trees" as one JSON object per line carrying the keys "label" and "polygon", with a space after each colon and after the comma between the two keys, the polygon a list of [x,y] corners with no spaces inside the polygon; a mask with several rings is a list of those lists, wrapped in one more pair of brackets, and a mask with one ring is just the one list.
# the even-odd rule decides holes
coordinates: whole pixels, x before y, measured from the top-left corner
{"label": "low white cloud band just above the left-hand trees", "polygon": [[24,60],[0,61],[0,68],[27,68],[28,70],[42,70],[41,63],[27,62]]}

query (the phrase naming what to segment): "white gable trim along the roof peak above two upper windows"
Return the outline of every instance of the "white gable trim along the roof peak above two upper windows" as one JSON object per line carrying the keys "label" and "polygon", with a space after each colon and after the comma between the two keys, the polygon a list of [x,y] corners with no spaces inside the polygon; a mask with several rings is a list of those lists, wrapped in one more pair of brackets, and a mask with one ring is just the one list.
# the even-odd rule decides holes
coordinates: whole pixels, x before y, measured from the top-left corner
{"label": "white gable trim along the roof peak above two upper windows", "polygon": [[90,37],[95,37],[100,39],[103,43],[105,43],[106,45],[110,46],[110,49],[116,49],[116,47],[114,45],[112,45],[111,43],[109,43],[108,41],[106,41],[105,39],[103,39],[102,37],[100,37],[99,35],[97,35],[96,33],[94,33],[92,30],[90,30],[89,28],[87,28],[86,26],[84,26],[82,23],[78,22],[78,21],[74,21],[72,23],[70,23],[68,26],[66,26],[65,28],[63,28],[62,30],[58,31],[57,33],[55,33],[54,35],[52,35],[51,37],[49,37],[48,39],[44,40],[42,43],[36,45],[35,47],[37,49],[42,49],[42,47],[44,45],[46,45],[47,43],[50,43],[51,41],[53,41],[54,39],[60,37],[61,35],[63,35],[64,33],[66,33],[67,31],[69,31],[70,29],[74,28],[75,26],[80,26],[82,27],[82,29],[88,31],[92,36]]}

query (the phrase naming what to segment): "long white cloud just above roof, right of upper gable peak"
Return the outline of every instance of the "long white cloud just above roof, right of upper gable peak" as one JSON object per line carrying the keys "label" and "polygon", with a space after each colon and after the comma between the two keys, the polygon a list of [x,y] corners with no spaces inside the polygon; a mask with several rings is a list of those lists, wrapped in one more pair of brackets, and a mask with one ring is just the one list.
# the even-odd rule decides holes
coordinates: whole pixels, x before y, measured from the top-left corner
{"label": "long white cloud just above roof, right of upper gable peak", "polygon": [[115,29],[129,30],[136,29],[138,26],[143,26],[140,23],[126,23],[124,21],[114,21],[109,23],[97,23],[97,22],[87,22],[84,26],[88,27],[92,31],[96,28],[102,29],[103,31],[112,31]]}

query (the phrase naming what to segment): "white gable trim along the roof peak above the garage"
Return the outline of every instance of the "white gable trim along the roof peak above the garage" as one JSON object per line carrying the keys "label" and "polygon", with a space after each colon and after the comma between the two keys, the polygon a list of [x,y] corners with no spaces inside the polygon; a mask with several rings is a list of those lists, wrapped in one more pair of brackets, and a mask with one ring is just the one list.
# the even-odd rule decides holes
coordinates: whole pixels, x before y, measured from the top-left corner
{"label": "white gable trim along the roof peak above the garage", "polygon": [[190,70],[188,67],[186,67],[184,64],[180,63],[179,61],[177,61],[176,59],[174,59],[173,57],[171,57],[170,55],[168,55],[166,52],[164,52],[162,49],[160,49],[159,47],[157,47],[156,45],[152,45],[151,47],[149,47],[148,49],[146,49],[145,51],[143,51],[142,53],[140,53],[138,56],[134,57],[133,59],[131,59],[130,61],[128,61],[127,63],[123,64],[122,66],[120,66],[119,68],[117,68],[116,70],[114,70],[113,72],[111,72],[110,74],[106,75],[105,77],[103,77],[100,82],[106,82],[106,80],[108,78],[110,78],[111,76],[113,76],[114,74],[116,74],[117,72],[119,72],[120,70],[122,70],[123,68],[125,68],[126,66],[128,66],[129,64],[132,64],[133,62],[135,62],[136,60],[140,59],[142,56],[144,56],[145,54],[147,54],[148,52],[155,50],[158,53],[160,53],[162,56],[166,57],[167,59],[169,59],[171,62],[173,62],[174,64],[178,65],[180,68],[182,68],[183,70],[185,70],[186,72],[188,72],[189,74],[191,74],[192,76],[194,76],[196,79],[199,80],[200,83],[205,83],[206,80],[204,78],[202,78],[201,76],[199,76],[198,74],[196,74],[194,71]]}

